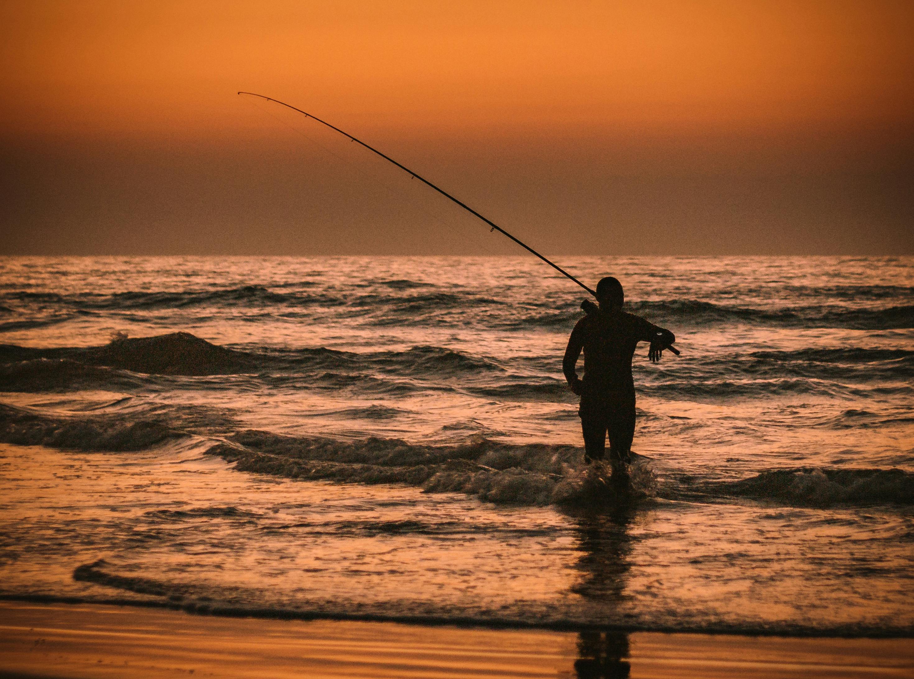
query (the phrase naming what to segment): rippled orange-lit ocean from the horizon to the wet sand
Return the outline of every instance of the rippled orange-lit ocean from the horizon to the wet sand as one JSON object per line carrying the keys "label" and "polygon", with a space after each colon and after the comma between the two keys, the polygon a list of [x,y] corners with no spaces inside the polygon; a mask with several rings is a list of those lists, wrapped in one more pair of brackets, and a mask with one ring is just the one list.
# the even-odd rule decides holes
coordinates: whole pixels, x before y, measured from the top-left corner
{"label": "rippled orange-lit ocean from the horizon to the wet sand", "polygon": [[558,263],[682,351],[628,497],[532,257],[0,259],[0,596],[914,633],[914,258]]}

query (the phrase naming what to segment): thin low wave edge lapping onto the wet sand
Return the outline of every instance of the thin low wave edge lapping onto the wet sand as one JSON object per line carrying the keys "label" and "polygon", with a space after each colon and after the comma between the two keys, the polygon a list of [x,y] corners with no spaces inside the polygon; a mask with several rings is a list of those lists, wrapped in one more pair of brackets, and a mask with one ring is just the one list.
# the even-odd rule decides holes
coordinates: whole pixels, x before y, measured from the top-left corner
{"label": "thin low wave edge lapping onto the wet sand", "polygon": [[[320,570],[320,569],[319,569]],[[83,595],[64,600],[122,603],[186,610],[208,615],[292,620],[399,621],[438,624],[508,626],[557,630],[669,631],[727,634],[775,634],[780,636],[910,636],[906,621],[817,621],[802,618],[769,621],[756,616],[702,616],[681,607],[658,609],[643,604],[639,612],[620,610],[599,601],[596,606],[551,605],[540,599],[518,597],[501,608],[464,606],[455,610],[450,602],[417,599],[404,593],[400,599],[365,600],[345,593],[328,598],[323,592],[305,589],[295,599],[269,596],[264,589],[220,586],[202,578],[168,578],[165,573],[146,573],[106,558],[97,558],[73,570],[73,579],[120,590],[122,594]],[[139,596],[136,596],[139,595]],[[52,596],[19,596],[16,599],[52,601]]]}

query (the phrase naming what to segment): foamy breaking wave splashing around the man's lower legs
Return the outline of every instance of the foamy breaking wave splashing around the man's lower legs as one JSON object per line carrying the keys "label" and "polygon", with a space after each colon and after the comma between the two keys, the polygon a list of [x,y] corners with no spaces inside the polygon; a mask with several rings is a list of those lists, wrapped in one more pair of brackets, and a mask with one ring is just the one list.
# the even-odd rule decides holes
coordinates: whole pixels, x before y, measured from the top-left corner
{"label": "foamy breaking wave splashing around the man's lower legs", "polygon": [[[592,503],[580,449],[547,444],[507,444],[479,438],[460,446],[413,445],[401,440],[340,441],[243,431],[231,444],[210,449],[239,471],[344,483],[409,483],[427,492],[466,493],[494,504]],[[632,466],[634,495],[659,492],[666,499],[694,497],[673,486],[658,491],[646,460]],[[707,484],[710,498],[745,497],[784,504],[914,504],[914,473],[890,470],[776,470],[737,482]]]}

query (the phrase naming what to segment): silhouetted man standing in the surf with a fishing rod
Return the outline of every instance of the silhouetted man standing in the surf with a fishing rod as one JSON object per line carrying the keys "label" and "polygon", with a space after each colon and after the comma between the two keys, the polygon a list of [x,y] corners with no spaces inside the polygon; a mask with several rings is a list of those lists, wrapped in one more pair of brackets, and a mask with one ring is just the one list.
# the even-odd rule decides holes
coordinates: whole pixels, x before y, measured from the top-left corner
{"label": "silhouetted man standing in the surf with a fishing rod", "polygon": [[[580,397],[580,425],[584,432],[584,462],[601,461],[610,438],[612,477],[627,477],[634,437],[634,381],[632,356],[639,342],[650,342],[648,357],[656,363],[676,338],[641,316],[622,311],[622,283],[607,276],[597,284],[599,309],[574,326],[562,361],[571,391]],[[575,366],[584,350],[584,378]]]}

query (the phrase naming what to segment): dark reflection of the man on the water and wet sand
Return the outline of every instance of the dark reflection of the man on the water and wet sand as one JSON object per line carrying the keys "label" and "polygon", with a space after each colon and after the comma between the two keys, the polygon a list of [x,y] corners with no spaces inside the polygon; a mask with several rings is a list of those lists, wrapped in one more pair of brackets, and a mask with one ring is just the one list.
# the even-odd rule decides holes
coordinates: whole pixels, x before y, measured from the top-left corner
{"label": "dark reflection of the man on the water and wet sand", "polygon": [[[632,506],[621,506],[575,516],[582,554],[578,560],[581,576],[572,591],[605,607],[619,606],[627,599],[625,584],[632,552],[629,525],[634,515]],[[622,679],[631,671],[623,660],[628,654],[627,632],[581,631],[574,669],[579,679]]]}

